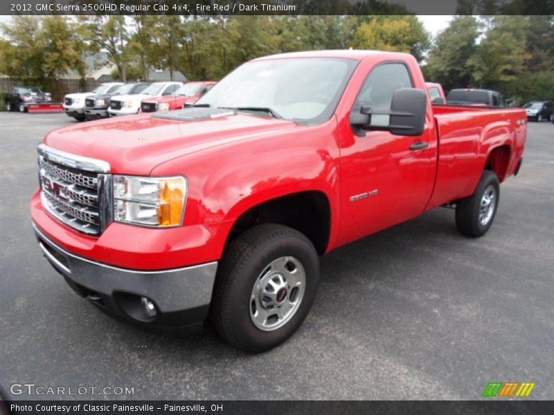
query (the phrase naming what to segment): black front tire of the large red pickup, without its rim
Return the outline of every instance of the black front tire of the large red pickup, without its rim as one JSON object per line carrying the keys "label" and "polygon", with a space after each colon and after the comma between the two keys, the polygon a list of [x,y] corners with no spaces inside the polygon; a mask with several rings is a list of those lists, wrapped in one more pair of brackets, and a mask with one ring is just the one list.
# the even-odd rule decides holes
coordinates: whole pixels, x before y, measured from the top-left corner
{"label": "black front tire of the large red pickup, without its rim", "polygon": [[[303,266],[303,297],[283,326],[263,331],[251,317],[251,294],[268,264],[282,257],[294,257]],[[225,252],[215,281],[211,321],[217,333],[234,347],[251,353],[267,351],[285,342],[301,326],[314,302],[318,282],[319,257],[307,237],[283,225],[256,225],[240,234]],[[289,294],[292,296],[292,291]]]}

